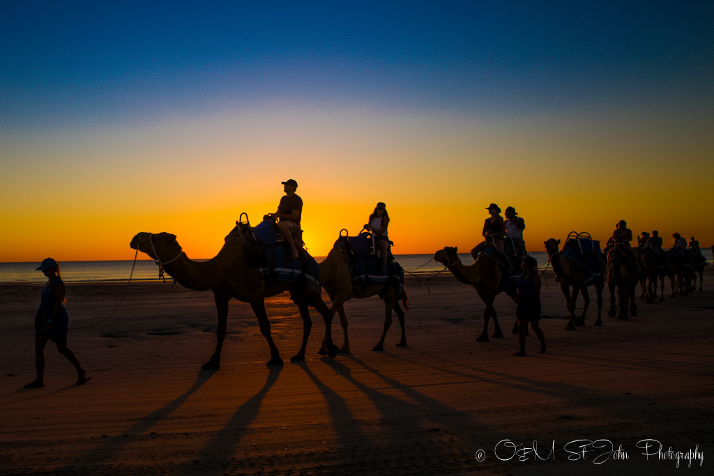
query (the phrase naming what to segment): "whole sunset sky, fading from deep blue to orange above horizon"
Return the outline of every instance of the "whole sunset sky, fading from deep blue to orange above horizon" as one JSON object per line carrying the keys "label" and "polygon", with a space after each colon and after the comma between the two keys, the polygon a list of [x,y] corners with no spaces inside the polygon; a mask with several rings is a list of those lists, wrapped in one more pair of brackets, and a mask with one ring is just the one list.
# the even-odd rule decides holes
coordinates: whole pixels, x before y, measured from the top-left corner
{"label": "whole sunset sky, fading from deep blue to orange above horizon", "polygon": [[711,1],[4,1],[0,262],[211,258],[303,198],[324,256],[378,201],[395,254],[624,219],[714,245]]}

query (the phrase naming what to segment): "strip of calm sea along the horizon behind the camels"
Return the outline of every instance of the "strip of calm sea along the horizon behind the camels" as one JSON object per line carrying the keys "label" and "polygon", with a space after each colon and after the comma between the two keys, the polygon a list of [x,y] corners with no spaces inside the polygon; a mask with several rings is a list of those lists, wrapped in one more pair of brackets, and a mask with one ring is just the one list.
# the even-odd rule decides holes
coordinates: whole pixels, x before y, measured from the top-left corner
{"label": "strip of calm sea along the horizon behind the camels", "polygon": [[[711,250],[702,250],[711,260]],[[545,251],[534,251],[533,258],[538,260],[538,267],[544,268],[548,260]],[[433,255],[396,255],[397,262],[408,273],[429,274],[438,273],[443,269],[441,263],[433,259]],[[460,253],[459,258],[465,265],[473,263],[468,253]],[[315,258],[318,263],[324,257]],[[120,261],[65,261],[60,262],[62,278],[68,283],[86,281],[127,281],[131,274],[133,260]],[[44,283],[44,274],[36,271],[37,263],[0,263],[0,283]],[[131,280],[156,280],[159,278],[159,268],[152,260],[137,260],[134,275]],[[170,278],[166,275],[166,278]]]}

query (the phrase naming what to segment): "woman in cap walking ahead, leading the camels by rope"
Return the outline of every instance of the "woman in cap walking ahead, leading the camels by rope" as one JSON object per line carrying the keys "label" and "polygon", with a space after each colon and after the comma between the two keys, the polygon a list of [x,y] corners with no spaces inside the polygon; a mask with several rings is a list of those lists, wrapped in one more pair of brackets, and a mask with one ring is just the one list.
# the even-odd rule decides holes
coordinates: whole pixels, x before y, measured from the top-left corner
{"label": "woman in cap walking ahead, leading the camels by rope", "polygon": [[74,355],[74,352],[67,348],[67,324],[69,318],[64,307],[64,281],[59,273],[59,264],[52,258],[46,258],[37,268],[47,276],[47,285],[42,290],[40,307],[35,315],[35,367],[36,378],[25,388],[44,387],[44,348],[48,340],[52,340],[57,345],[59,353],[64,355],[77,370],[77,381],[75,385],[86,383],[91,377],[86,376],[86,370],[82,368]]}

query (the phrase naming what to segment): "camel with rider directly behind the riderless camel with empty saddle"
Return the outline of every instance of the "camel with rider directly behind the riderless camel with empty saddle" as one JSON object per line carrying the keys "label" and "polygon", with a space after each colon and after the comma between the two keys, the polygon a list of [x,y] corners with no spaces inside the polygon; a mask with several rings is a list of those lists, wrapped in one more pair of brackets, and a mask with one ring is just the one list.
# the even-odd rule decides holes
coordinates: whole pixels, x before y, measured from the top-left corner
{"label": "camel with rider directly behind the riderless camel with empty saddle", "polygon": [[608,315],[615,317],[615,288],[617,288],[620,313],[618,319],[630,320],[628,316],[628,303],[630,314],[637,317],[637,303],[635,303],[635,287],[639,281],[638,265],[628,250],[611,248],[608,250],[608,267],[605,275],[610,290],[610,309]]}

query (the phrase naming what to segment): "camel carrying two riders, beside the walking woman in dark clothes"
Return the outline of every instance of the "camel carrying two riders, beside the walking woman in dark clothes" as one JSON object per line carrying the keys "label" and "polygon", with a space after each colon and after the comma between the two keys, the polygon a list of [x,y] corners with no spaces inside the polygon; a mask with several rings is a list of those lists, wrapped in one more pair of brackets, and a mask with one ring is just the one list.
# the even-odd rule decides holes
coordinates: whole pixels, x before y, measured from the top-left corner
{"label": "camel carrying two riders, beside the walking woman in dark clothes", "polygon": [[496,318],[496,308],[493,301],[496,295],[504,290],[503,280],[508,278],[506,266],[497,262],[493,258],[480,254],[476,257],[473,265],[464,265],[458,257],[458,248],[447,246],[438,250],[434,255],[434,260],[443,264],[461,283],[473,286],[478,296],[486,303],[483,310],[483,332],[476,339],[477,342],[488,342],[488,320],[493,318],[496,330],[491,337],[502,338],[501,326]]}

